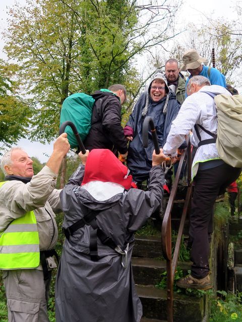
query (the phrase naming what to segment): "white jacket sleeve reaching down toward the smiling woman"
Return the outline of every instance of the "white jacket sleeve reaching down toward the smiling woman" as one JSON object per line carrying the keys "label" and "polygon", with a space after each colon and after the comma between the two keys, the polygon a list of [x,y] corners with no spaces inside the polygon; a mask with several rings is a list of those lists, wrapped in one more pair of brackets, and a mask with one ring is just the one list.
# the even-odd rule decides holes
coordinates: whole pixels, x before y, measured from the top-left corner
{"label": "white jacket sleeve reaching down toward the smiling woman", "polygon": [[171,156],[177,154],[177,148],[184,142],[185,135],[189,135],[189,131],[197,123],[200,114],[201,108],[198,102],[193,98],[193,95],[189,96],[172,122],[170,132],[163,147],[165,154],[171,154]]}

